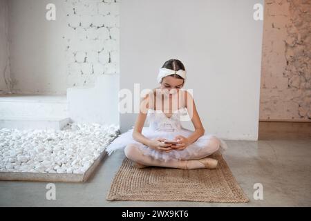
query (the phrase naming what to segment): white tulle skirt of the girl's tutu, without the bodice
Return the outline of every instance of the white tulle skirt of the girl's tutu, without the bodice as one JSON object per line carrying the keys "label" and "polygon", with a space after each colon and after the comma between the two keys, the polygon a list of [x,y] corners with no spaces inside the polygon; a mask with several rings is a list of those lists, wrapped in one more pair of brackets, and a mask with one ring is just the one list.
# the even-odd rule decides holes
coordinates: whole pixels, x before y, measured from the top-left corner
{"label": "white tulle skirt of the girl's tutu, without the bodice", "polygon": [[[155,138],[165,138],[167,140],[173,140],[176,135],[182,135],[184,137],[188,137],[193,133],[194,131],[190,131],[186,128],[181,128],[179,131],[156,131],[151,129],[150,127],[144,127],[142,128],[142,135],[149,139],[155,139]],[[117,149],[122,149],[128,144],[135,144],[140,148],[142,153],[144,155],[151,155],[154,159],[157,160],[170,160],[170,159],[178,159],[178,160],[195,160],[202,158],[202,151],[205,151],[203,148],[206,148],[208,141],[211,139],[211,137],[215,137],[220,141],[220,148],[219,151],[223,152],[225,149],[227,149],[227,144],[217,138],[215,135],[205,133],[205,135],[202,135],[201,137],[196,140],[196,142],[190,144],[182,151],[176,151],[172,150],[169,153],[165,151],[158,151],[153,148],[150,148],[149,146],[146,146],[140,142],[137,142],[133,139],[132,136],[133,128],[129,131],[126,131],[126,133],[122,133],[119,135],[113,142],[106,147],[106,152],[108,155],[111,155],[113,151]]]}

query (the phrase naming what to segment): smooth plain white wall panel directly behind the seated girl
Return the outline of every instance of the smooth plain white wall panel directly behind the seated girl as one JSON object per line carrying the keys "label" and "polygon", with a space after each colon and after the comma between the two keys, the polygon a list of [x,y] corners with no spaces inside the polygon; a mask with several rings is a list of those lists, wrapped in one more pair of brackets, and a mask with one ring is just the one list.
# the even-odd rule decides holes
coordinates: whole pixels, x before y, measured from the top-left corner
{"label": "smooth plain white wall panel directly behind the seated girl", "polygon": [[[155,88],[164,61],[180,59],[205,131],[257,140],[263,22],[253,19],[255,3],[263,1],[122,1],[120,88]],[[135,117],[120,115],[121,131]]]}

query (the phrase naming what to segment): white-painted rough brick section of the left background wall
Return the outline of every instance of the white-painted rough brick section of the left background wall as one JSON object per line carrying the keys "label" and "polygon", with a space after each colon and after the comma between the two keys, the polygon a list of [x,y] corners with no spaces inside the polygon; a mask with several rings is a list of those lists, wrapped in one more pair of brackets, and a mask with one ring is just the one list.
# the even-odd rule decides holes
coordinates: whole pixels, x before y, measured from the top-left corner
{"label": "white-painted rough brick section of the left background wall", "polygon": [[97,75],[119,73],[119,4],[65,0],[68,87],[93,85]]}

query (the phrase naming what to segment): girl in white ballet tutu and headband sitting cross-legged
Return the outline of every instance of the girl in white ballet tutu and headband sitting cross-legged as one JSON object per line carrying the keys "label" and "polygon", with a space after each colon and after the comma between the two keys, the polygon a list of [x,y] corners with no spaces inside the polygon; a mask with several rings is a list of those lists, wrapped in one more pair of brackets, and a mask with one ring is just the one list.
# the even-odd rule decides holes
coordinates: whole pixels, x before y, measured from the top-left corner
{"label": "girl in white ballet tutu and headband sitting cross-legged", "polygon": [[[140,102],[135,125],[115,139],[106,152],[124,148],[134,166],[162,166],[176,169],[216,169],[218,161],[208,157],[227,144],[206,133],[194,98],[182,90],[187,79],[185,66],[177,59],[166,61],[158,73],[160,87],[151,90]],[[165,105],[167,104],[167,108]],[[183,128],[181,117],[189,115],[194,131]],[[144,127],[145,120],[149,127]]]}

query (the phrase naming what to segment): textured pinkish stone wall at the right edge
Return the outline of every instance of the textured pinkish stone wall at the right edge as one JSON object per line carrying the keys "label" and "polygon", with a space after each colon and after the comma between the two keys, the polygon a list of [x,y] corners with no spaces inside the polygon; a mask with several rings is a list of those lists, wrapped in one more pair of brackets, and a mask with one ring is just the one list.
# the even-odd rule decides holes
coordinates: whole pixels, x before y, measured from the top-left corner
{"label": "textured pinkish stone wall at the right edge", "polygon": [[260,119],[311,121],[311,0],[266,0]]}

